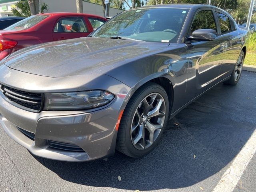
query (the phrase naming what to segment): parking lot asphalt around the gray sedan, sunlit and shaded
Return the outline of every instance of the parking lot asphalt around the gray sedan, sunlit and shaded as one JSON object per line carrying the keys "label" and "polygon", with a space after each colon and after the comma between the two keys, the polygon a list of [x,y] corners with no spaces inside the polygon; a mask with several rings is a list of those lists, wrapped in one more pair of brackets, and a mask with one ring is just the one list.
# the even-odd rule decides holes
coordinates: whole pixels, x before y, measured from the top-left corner
{"label": "parking lot asphalt around the gray sedan, sunlit and shaded", "polygon": [[[0,127],[0,191],[212,191],[256,130],[256,73],[218,84],[177,114],[154,151],[71,163],[33,156]],[[256,155],[234,191],[256,191]],[[121,177],[121,181],[118,180]]]}

